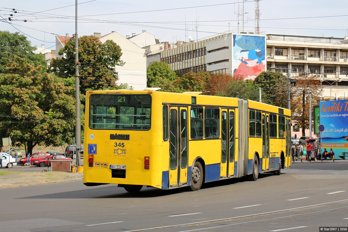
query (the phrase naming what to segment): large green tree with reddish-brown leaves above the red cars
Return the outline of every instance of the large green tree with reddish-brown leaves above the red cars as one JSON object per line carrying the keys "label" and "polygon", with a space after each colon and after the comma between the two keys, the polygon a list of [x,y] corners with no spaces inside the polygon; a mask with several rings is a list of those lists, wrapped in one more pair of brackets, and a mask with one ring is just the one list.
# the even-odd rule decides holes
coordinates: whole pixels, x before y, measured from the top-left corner
{"label": "large green tree with reddish-brown leaves above the red cars", "polygon": [[[71,143],[75,124],[75,91],[16,56],[0,74],[0,133],[24,144],[32,153],[35,145]],[[1,141],[0,141],[1,142]]]}

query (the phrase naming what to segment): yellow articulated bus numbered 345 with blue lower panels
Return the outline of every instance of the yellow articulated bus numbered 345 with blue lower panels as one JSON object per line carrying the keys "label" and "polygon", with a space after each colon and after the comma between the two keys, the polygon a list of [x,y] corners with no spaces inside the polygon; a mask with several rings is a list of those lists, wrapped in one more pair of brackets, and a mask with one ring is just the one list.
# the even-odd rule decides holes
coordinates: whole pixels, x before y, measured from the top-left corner
{"label": "yellow articulated bus numbered 345 with blue lower panels", "polygon": [[87,91],[84,184],[199,190],[291,166],[290,110],[157,89]]}

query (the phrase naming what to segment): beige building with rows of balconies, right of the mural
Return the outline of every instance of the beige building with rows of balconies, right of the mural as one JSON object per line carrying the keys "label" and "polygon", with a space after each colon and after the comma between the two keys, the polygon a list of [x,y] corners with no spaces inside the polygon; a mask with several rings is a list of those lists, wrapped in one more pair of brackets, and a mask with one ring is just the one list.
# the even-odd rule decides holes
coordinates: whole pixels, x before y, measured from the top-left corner
{"label": "beige building with rows of balconies, right of the mural", "polygon": [[275,67],[290,78],[318,74],[324,99],[348,97],[348,37],[267,34],[266,39],[267,70]]}

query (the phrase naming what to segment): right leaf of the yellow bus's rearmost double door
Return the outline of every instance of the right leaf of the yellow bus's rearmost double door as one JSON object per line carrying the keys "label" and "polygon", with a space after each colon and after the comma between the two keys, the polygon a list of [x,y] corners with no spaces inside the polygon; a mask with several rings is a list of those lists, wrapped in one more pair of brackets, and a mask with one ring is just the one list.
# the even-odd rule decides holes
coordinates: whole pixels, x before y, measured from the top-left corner
{"label": "right leaf of the yellow bus's rearmost double door", "polygon": [[188,128],[187,128],[187,120],[188,120],[188,108],[187,107],[180,107],[180,134],[179,134],[179,141],[180,141],[180,156],[179,156],[179,163],[180,163],[180,170],[179,170],[179,186],[187,183],[187,176],[188,173]]}

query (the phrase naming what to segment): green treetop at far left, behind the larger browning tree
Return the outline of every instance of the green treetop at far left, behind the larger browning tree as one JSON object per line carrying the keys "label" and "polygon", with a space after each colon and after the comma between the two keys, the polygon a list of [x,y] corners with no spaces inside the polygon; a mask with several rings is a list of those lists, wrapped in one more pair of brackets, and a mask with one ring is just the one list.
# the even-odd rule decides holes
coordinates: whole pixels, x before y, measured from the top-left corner
{"label": "green treetop at far left, behind the larger browning tree", "polygon": [[30,45],[24,35],[18,32],[10,33],[0,31],[0,69],[3,70],[7,63],[15,60],[15,56],[24,57],[27,62],[42,65],[46,69],[46,61],[42,54],[35,54],[35,47]]}

